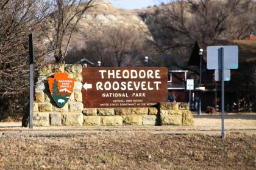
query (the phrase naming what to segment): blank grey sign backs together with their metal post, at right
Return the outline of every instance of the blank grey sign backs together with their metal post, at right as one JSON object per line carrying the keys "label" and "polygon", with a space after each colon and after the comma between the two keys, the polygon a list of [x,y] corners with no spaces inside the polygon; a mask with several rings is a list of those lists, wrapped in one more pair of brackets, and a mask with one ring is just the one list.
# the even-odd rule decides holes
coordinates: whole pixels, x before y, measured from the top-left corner
{"label": "blank grey sign backs together with their metal post, at right", "polygon": [[224,82],[230,81],[230,69],[238,69],[238,46],[207,47],[207,69],[215,70],[215,81],[221,80],[221,138],[224,139]]}

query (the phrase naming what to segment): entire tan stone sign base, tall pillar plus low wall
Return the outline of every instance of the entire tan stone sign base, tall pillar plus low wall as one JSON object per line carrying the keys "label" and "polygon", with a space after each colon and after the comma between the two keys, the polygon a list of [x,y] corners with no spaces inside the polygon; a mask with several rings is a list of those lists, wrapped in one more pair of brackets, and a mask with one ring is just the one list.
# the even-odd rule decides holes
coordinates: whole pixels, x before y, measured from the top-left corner
{"label": "entire tan stone sign base, tall pillar plus low wall", "polygon": [[[68,103],[59,108],[52,99],[48,78],[54,73],[74,78],[74,91]],[[49,64],[39,72],[35,86],[34,126],[192,126],[188,103],[158,103],[144,108],[84,108],[82,66]]]}

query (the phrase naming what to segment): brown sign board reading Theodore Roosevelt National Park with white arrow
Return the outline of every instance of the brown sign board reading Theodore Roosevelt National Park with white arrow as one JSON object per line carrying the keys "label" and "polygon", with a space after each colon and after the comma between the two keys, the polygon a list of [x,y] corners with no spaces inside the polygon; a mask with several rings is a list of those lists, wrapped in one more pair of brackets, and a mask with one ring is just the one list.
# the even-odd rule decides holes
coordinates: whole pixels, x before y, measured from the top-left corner
{"label": "brown sign board reading Theodore Roosevelt National Park with white arrow", "polygon": [[94,107],[149,107],[166,102],[166,67],[84,68],[83,103]]}

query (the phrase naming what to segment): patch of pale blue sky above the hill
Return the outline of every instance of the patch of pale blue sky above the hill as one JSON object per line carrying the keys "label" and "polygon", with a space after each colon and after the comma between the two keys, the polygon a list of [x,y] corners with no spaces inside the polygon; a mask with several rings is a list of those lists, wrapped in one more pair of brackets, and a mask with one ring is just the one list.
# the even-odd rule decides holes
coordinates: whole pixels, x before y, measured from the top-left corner
{"label": "patch of pale blue sky above the hill", "polygon": [[161,2],[168,2],[167,0],[108,0],[115,7],[119,9],[142,9],[148,6],[159,5]]}

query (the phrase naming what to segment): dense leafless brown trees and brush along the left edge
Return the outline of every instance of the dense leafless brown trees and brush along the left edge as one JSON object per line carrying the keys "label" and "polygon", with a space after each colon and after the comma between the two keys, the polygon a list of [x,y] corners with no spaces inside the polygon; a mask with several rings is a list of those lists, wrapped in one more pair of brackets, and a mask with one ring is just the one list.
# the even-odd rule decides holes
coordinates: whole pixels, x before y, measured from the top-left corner
{"label": "dense leafless brown trees and brush along the left edge", "polygon": [[29,102],[28,35],[34,33],[35,70],[46,61],[37,29],[48,16],[43,0],[0,1],[0,120],[22,117]]}

